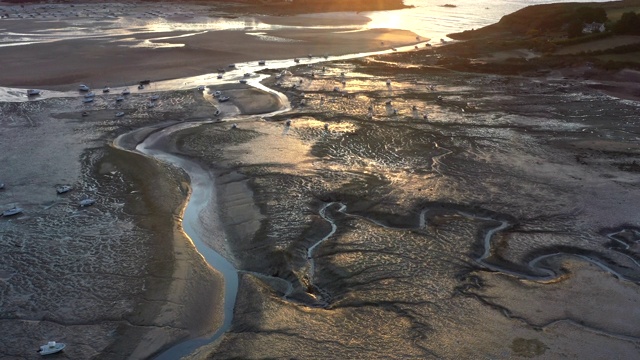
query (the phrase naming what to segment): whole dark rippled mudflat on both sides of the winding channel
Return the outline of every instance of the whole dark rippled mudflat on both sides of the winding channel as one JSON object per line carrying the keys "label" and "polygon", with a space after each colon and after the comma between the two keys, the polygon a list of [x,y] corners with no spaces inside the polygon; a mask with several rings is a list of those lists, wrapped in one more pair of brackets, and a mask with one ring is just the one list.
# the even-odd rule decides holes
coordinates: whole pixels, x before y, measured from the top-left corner
{"label": "whole dark rippled mudflat on both sides of the winding channel", "polygon": [[266,66],[292,107],[273,116],[235,82],[0,104],[0,204],[25,210],[0,219],[2,356],[149,358],[220,327],[224,279],[182,232],[191,179],[135,152],[175,124],[194,126],[157,150],[210,171],[200,223],[239,277],[230,330],[192,358],[635,356],[638,102],[410,55]]}

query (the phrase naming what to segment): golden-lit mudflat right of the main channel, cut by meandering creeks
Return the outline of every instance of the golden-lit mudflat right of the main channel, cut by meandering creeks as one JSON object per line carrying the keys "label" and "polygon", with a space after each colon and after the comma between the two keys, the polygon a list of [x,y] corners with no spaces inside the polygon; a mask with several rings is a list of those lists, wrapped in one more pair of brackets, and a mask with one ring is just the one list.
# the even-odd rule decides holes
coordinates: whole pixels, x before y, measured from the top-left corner
{"label": "golden-lit mudflat right of the main channel, cut by meandering creeks", "polygon": [[637,104],[396,59],[293,69],[291,112],[177,142],[243,189],[220,203],[241,283],[210,358],[632,356],[617,308],[589,314],[638,297]]}

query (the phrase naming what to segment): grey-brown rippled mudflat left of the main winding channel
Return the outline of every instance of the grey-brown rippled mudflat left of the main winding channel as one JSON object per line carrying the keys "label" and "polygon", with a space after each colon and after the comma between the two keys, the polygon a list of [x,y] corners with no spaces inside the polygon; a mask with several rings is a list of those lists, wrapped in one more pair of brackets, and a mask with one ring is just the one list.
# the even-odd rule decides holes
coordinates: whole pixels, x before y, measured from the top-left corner
{"label": "grey-brown rippled mudflat left of the main winding channel", "polygon": [[[221,321],[220,278],[180,231],[188,179],[108,146],[128,128],[163,121],[144,102],[129,97],[124,118],[73,98],[2,104],[0,130],[15,141],[0,145],[11,170],[0,205],[24,209],[0,222],[4,357],[38,357],[35,349],[56,340],[71,358],[148,358]],[[73,189],[56,194],[61,184]],[[81,207],[83,199],[95,204]]]}

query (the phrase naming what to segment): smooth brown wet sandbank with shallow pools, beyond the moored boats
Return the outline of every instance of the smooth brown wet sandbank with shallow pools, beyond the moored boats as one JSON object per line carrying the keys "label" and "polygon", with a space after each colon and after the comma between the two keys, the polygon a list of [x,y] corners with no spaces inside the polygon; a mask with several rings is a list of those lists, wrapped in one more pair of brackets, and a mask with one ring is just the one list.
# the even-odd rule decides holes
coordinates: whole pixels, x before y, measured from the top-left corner
{"label": "smooth brown wet sandbank with shallow pools, beyond the moored boats", "polygon": [[[95,25],[96,29],[92,29],[91,22],[78,24],[74,18],[59,19],[54,23],[57,29],[76,26],[86,28],[89,35],[72,34],[65,41],[0,47],[0,57],[4,59],[0,84],[56,90],[74,89],[80,83],[95,88],[113,87],[136,84],[143,79],[156,81],[215,73],[237,62],[290,59],[309,54],[316,57],[353,54],[416,42],[416,34],[403,30],[345,31],[355,30],[364,22],[362,16],[349,14],[339,14],[334,19],[313,16],[253,19],[256,23],[282,27],[264,31],[203,31],[206,24],[192,24],[192,30],[179,30],[179,20],[166,15],[158,19],[163,26],[157,25],[154,19],[105,17],[99,19],[102,22]],[[206,19],[186,19],[185,23],[198,24]],[[331,28],[346,24],[351,26],[341,31]],[[301,25],[327,28],[295,28]],[[42,30],[39,37],[47,33],[46,25],[33,19],[3,20],[2,26],[15,33]],[[112,27],[119,31],[110,31]],[[104,31],[100,31],[102,28]]]}

